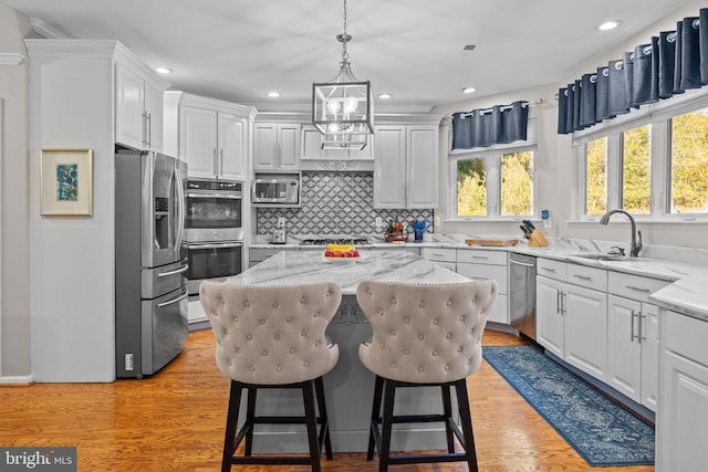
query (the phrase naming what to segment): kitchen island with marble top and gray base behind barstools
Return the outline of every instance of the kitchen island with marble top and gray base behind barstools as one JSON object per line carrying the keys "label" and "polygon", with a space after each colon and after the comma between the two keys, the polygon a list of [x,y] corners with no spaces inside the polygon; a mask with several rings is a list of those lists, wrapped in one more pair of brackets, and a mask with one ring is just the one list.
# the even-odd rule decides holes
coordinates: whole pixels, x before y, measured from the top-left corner
{"label": "kitchen island with marble top and gray base behind barstools", "polygon": [[[356,286],[364,280],[415,283],[459,283],[469,281],[418,255],[400,251],[362,252],[347,262],[331,262],[321,252],[280,252],[226,283],[238,285],[284,285],[336,282],[342,304],[327,327],[340,346],[335,368],[324,377],[332,447],[335,452],[361,452],[368,442],[368,424],[374,392],[374,375],[358,359],[358,345],[372,329],[356,303]],[[410,390],[410,391],[406,391]],[[396,411],[442,412],[439,388],[421,387],[396,394]],[[302,415],[296,391],[261,390],[259,415]],[[244,411],[244,407],[241,408]],[[456,411],[456,406],[454,406]],[[242,419],[241,419],[242,420]],[[442,423],[398,424],[393,450],[444,449]],[[256,430],[254,452],[303,452],[308,450],[304,427],[263,426]]]}

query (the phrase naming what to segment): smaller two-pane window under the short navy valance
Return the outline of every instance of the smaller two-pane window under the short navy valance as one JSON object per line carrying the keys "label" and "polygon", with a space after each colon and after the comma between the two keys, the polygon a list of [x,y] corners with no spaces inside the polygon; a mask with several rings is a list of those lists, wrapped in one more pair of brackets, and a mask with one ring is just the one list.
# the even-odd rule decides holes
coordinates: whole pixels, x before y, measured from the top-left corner
{"label": "smaller two-pane window under the short navy valance", "polygon": [[496,148],[456,155],[457,218],[517,218],[534,214],[534,148]]}

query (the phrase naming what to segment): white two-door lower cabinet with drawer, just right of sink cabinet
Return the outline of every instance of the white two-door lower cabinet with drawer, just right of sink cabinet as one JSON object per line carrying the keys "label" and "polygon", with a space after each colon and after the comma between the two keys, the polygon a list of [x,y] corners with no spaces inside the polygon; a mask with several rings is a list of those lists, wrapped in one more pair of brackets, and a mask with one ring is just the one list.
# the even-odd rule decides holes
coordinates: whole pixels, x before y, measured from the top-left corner
{"label": "white two-door lower cabinet with drawer, just right of sink cabinet", "polygon": [[610,272],[607,384],[656,411],[659,370],[658,307],[648,295],[668,282]]}

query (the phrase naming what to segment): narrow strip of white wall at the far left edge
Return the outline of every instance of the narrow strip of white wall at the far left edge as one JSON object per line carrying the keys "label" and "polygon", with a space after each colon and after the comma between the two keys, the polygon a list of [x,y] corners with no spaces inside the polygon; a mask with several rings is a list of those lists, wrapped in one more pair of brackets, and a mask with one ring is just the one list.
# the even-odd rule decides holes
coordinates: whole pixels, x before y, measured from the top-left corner
{"label": "narrow strip of white wall at the far left edge", "polygon": [[22,43],[31,32],[25,17],[0,2],[0,54],[24,57],[0,65],[0,382],[31,380],[28,61]]}

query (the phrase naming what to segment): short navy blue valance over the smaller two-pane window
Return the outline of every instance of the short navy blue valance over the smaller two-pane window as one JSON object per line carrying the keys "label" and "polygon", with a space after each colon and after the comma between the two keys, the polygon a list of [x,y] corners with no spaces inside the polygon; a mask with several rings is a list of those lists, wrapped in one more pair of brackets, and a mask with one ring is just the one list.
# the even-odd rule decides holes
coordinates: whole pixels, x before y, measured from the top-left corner
{"label": "short navy blue valance over the smaller two-pane window", "polygon": [[525,140],[529,103],[494,105],[452,114],[452,149],[472,149]]}

